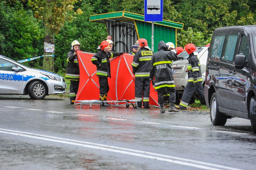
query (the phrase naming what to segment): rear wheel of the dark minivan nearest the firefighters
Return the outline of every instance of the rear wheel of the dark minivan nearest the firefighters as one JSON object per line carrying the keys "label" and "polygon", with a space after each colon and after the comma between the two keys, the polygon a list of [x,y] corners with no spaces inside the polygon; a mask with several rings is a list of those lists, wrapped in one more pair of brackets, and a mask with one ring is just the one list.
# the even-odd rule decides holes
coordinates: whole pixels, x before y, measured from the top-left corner
{"label": "rear wheel of the dark minivan nearest the firefighters", "polygon": [[218,109],[218,101],[216,99],[216,93],[212,94],[210,103],[210,115],[213,125],[225,125],[227,122],[227,116],[221,113]]}

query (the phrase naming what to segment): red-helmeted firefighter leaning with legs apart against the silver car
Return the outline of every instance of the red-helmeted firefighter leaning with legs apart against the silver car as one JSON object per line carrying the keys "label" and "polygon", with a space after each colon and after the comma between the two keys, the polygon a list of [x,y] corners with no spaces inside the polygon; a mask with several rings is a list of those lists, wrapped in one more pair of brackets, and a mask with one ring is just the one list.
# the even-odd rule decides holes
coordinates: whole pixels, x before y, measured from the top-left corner
{"label": "red-helmeted firefighter leaning with legs apart against the silver car", "polygon": [[184,90],[184,93],[181,98],[181,102],[176,108],[185,110],[189,104],[189,101],[195,91],[197,91],[203,99],[205,99],[204,96],[204,89],[202,84],[202,73],[201,73],[201,66],[199,58],[197,57],[197,48],[194,44],[187,44],[184,47],[184,50],[187,51],[189,54],[188,58],[188,65],[187,65],[187,85]]}

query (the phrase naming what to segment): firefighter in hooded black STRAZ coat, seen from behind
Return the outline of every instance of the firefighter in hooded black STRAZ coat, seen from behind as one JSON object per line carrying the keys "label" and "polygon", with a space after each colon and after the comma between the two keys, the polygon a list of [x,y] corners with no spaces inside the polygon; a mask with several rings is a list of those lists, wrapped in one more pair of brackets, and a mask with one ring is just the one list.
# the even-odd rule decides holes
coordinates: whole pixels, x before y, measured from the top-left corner
{"label": "firefighter in hooded black STRAZ coat, seen from behind", "polygon": [[176,94],[172,76],[172,61],[176,61],[178,57],[173,51],[168,51],[168,46],[163,41],[159,42],[157,49],[158,51],[153,54],[151,59],[149,80],[152,81],[153,87],[157,91],[160,113],[165,113],[163,100],[165,91],[169,94],[168,112],[178,112],[174,107]]}

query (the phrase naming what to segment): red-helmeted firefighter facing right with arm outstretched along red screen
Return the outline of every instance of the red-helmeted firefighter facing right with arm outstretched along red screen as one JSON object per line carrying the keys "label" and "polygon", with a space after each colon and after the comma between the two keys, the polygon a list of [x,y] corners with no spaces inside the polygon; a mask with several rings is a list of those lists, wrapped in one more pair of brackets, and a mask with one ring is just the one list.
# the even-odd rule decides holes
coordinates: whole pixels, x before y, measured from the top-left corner
{"label": "red-helmeted firefighter facing right with arm outstretched along red screen", "polygon": [[[99,47],[100,50],[92,56],[91,61],[97,67],[96,75],[99,77],[99,100],[106,101],[108,96],[107,93],[109,91],[108,77],[111,78],[109,59],[119,56],[124,52],[109,52],[111,47],[107,41],[102,41]],[[101,103],[100,106],[110,106],[110,104],[106,102]]]}

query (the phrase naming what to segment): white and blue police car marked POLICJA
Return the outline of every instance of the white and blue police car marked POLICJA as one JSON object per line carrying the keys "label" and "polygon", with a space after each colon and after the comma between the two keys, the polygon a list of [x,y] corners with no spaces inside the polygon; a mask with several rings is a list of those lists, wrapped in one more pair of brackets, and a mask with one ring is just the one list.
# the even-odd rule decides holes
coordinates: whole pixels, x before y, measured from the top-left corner
{"label": "white and blue police car marked POLICJA", "polygon": [[32,99],[44,99],[46,95],[64,93],[65,88],[62,76],[0,55],[0,95],[28,94]]}

